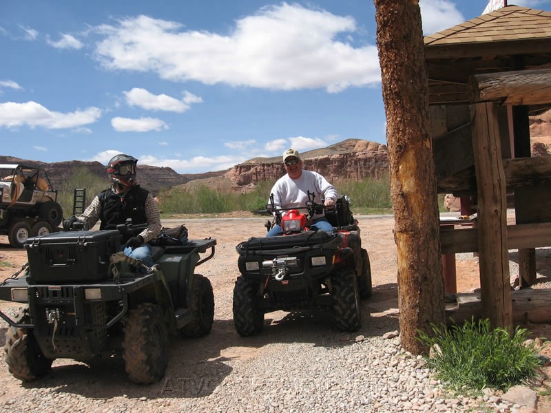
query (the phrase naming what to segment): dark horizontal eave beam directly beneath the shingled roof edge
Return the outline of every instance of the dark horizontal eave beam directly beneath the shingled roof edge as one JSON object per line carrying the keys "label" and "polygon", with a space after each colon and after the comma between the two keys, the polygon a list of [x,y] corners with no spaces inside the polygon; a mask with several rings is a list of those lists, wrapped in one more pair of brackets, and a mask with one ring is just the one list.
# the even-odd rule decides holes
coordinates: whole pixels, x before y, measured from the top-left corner
{"label": "dark horizontal eave beam directly beneath the shingled roof edge", "polygon": [[453,45],[425,45],[425,59],[457,59],[461,57],[537,54],[551,52],[551,39],[484,41]]}

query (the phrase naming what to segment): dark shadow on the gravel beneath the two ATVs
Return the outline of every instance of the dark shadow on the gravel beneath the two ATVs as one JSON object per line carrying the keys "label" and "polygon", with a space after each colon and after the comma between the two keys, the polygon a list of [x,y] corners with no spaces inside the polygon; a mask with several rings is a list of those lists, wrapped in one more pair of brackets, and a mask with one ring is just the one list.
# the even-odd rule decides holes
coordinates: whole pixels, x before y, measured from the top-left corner
{"label": "dark shadow on the gravel beneath the two ATVs", "polygon": [[[171,337],[169,363],[165,377],[152,385],[136,385],[127,378],[121,357],[97,361],[92,366],[69,359],[54,361],[51,372],[24,388],[54,388],[61,394],[79,394],[91,399],[200,398],[229,391],[225,386],[232,361],[262,357],[280,343],[312,343],[328,348],[350,346],[356,337],[380,337],[397,330],[398,320],[388,315],[371,317],[373,305],[382,298],[396,296],[395,284],[373,288],[371,298],[362,301],[362,328],[340,332],[333,325],[330,310],[275,312],[265,317],[264,329],[254,337],[240,337],[232,319],[215,319],[209,335],[197,339]],[[377,310],[380,313],[380,309]]]}

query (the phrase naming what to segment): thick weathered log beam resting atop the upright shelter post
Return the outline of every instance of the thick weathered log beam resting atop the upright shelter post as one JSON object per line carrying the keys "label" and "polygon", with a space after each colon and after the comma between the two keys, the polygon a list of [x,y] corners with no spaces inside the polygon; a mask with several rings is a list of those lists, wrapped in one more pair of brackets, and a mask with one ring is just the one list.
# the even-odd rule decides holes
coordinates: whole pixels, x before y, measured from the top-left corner
{"label": "thick weathered log beam resting atop the upright shelter post", "polygon": [[551,102],[551,69],[476,74],[468,85],[472,102],[542,105]]}

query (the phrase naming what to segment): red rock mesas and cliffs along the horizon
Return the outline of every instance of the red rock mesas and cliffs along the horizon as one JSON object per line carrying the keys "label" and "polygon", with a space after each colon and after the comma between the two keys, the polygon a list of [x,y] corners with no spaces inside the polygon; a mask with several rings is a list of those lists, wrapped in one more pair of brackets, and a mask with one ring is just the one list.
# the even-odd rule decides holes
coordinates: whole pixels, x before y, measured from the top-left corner
{"label": "red rock mesas and cliffs along the horizon", "polygon": [[[530,118],[533,156],[548,156],[551,153],[551,111]],[[322,173],[330,182],[342,179],[373,177],[380,178],[388,171],[386,145],[368,140],[348,139],[326,148],[301,153],[304,168]],[[78,160],[45,163],[37,160],[22,160],[0,156],[0,163],[26,163],[43,167],[48,171],[52,185],[59,189],[63,182],[78,169],[85,168],[108,183],[105,166],[99,162]],[[280,156],[252,158],[225,171],[180,174],[168,167],[138,165],[138,178],[143,187],[157,195],[163,189],[180,185],[206,185],[214,189],[250,191],[258,182],[276,180],[285,173]]]}

